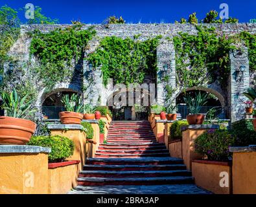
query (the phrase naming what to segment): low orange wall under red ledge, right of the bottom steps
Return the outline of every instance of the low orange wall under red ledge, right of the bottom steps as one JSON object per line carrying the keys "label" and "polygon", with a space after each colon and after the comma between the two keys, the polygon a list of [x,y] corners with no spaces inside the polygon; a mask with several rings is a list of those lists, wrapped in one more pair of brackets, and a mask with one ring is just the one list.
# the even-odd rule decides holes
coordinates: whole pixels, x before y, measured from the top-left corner
{"label": "low orange wall under red ledge, right of the bottom steps", "polygon": [[[222,172],[226,172],[228,175],[227,180],[225,180],[228,187],[220,186],[221,179],[223,179],[223,177],[220,177]],[[232,192],[231,166],[192,162],[192,177],[194,177],[194,182],[197,186],[213,193],[229,194]]]}

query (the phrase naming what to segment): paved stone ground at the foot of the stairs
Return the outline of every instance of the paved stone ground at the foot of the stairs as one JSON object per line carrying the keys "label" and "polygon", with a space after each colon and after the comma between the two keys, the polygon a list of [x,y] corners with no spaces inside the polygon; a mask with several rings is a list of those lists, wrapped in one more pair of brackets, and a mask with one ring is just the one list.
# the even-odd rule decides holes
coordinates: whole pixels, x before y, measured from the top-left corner
{"label": "paved stone ground at the foot of the stairs", "polygon": [[156,186],[77,186],[68,194],[209,194],[194,184]]}

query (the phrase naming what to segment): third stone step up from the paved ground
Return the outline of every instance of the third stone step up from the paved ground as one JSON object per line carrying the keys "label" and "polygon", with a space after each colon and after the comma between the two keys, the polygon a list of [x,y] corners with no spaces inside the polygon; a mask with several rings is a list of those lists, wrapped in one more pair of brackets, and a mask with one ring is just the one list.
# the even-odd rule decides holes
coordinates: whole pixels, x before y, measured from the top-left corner
{"label": "third stone step up from the paved ground", "polygon": [[115,165],[115,164],[106,164],[106,165],[93,165],[86,164],[84,165],[84,170],[130,170],[130,171],[144,171],[144,170],[178,170],[178,169],[186,169],[184,164],[159,164],[159,165]]}

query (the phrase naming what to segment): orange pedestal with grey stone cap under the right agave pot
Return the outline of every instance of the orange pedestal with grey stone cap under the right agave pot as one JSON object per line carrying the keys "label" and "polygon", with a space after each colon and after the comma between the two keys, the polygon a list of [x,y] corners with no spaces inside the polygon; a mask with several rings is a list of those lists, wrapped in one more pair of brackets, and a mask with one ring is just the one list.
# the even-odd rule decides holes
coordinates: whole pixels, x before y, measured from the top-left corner
{"label": "orange pedestal with grey stone cap under the right agave pot", "polygon": [[202,155],[198,155],[198,153],[194,151],[194,140],[207,129],[218,129],[219,127],[220,126],[216,124],[193,124],[181,128],[182,158],[188,170],[191,170],[192,160],[202,159]]}

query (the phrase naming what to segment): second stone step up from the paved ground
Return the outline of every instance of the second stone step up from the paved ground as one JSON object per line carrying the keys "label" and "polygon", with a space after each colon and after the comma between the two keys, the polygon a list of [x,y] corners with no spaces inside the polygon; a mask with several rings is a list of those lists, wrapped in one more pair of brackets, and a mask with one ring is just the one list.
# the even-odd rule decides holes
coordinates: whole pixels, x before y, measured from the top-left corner
{"label": "second stone step up from the paved ground", "polygon": [[190,176],[191,171],[168,170],[168,171],[109,171],[109,170],[83,170],[79,177],[105,177],[105,178],[136,178],[136,177],[177,177]]}

